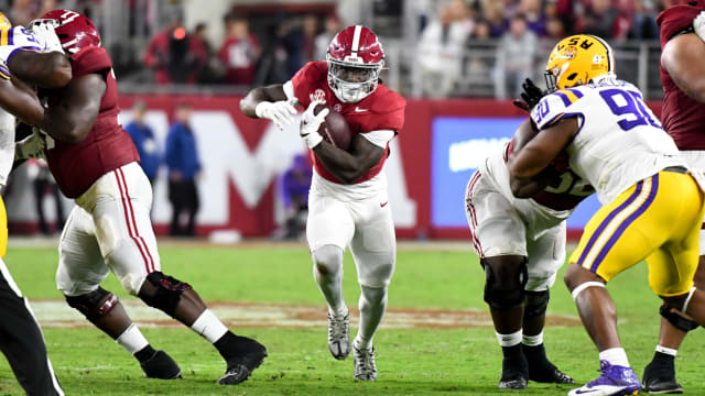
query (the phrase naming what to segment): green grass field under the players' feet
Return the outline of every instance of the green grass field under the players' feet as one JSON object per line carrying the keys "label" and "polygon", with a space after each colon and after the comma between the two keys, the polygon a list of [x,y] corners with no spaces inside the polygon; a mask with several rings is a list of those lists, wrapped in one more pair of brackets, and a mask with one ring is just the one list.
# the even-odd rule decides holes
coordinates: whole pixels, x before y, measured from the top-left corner
{"label": "green grass field under the players' feet", "polygon": [[[31,301],[59,300],[54,284],[57,253],[53,248],[12,248],[7,263]],[[251,301],[325,305],[313,280],[311,260],[301,248],[198,248],[163,245],[166,274],[191,283],[207,301]],[[355,266],[346,260],[345,290],[349,307],[359,295]],[[561,275],[562,276],[562,275]],[[484,273],[475,255],[462,251],[400,250],[389,289],[390,308],[476,309],[482,302]],[[131,299],[110,275],[104,287]],[[657,341],[658,298],[647,285],[646,265],[639,265],[609,285],[620,316],[620,333],[632,366],[641,375]],[[558,278],[550,315],[576,318],[576,310]],[[326,346],[326,328],[234,328],[257,338],[270,356],[243,384],[215,385],[225,364],[206,341],[189,329],[143,328],[158,349],[181,365],[184,378],[145,380],[137,361],[100,331],[89,328],[44,329],[47,350],[67,395],[496,395],[501,352],[490,328],[381,329],[376,337],[377,383],[352,381],[352,359],[335,361]],[[597,352],[579,326],[546,328],[549,356],[581,384],[597,375]],[[705,394],[701,371],[705,338],[695,331],[686,339],[676,367],[687,394]],[[571,386],[530,383],[521,395],[565,395]],[[512,392],[502,392],[512,393]],[[0,362],[0,394],[21,395],[7,362]]]}

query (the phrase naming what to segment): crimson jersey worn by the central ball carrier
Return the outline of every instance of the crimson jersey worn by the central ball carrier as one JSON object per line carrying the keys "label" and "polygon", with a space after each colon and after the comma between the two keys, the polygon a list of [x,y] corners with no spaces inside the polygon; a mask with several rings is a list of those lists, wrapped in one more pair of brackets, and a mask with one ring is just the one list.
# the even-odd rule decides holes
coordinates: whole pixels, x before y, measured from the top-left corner
{"label": "crimson jersey worn by the central ball carrier", "polygon": [[[299,103],[304,108],[314,99],[324,99],[326,105],[333,110],[345,117],[350,125],[352,134],[391,130],[399,133],[404,125],[404,108],[406,101],[401,95],[390,90],[380,84],[377,89],[356,103],[345,103],[338,100],[330,87],[328,87],[328,65],[325,62],[310,62],[304,65],[299,73],[291,79],[294,89],[294,96]],[[375,165],[367,174],[352,184],[369,180],[377,176],[384,166],[384,161],[389,155],[383,155],[380,162]],[[343,184],[323,165],[318,157],[311,152],[312,161],[316,173],[326,180]]]}

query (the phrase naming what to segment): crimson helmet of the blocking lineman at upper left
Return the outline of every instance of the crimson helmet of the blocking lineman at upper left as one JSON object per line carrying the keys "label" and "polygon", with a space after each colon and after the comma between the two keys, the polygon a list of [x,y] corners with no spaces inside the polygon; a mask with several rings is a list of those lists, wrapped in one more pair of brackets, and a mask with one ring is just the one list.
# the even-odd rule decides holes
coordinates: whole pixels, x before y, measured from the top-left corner
{"label": "crimson helmet of the blocking lineman at upper left", "polygon": [[48,23],[54,28],[62,47],[69,54],[77,53],[86,46],[100,46],[98,29],[86,15],[70,10],[54,10],[30,23],[30,28],[36,24]]}

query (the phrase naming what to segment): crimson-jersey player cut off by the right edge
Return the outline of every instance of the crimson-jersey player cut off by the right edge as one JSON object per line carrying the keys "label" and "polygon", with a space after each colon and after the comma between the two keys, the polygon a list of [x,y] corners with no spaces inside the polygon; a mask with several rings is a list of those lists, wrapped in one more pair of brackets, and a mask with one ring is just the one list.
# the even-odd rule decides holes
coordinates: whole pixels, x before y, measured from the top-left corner
{"label": "crimson-jersey player cut off by the right edge", "polygon": [[[673,138],[688,166],[705,169],[705,1],[683,1],[663,11],[657,22],[661,33],[663,129]],[[695,286],[705,288],[705,230],[701,230]],[[661,334],[653,360],[643,373],[648,392],[682,393],[673,364],[687,331],[697,323],[662,306]]]}

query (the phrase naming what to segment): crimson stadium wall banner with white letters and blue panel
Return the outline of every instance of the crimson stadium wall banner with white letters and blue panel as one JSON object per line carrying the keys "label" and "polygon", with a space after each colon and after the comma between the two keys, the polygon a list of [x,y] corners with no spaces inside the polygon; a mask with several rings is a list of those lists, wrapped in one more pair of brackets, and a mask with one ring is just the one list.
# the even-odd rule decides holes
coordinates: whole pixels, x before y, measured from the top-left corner
{"label": "crimson stadium wall banner with white letters and blue panel", "polygon": [[[278,227],[284,217],[276,194],[278,175],[295,155],[307,155],[297,122],[280,131],[269,121],[249,119],[239,110],[240,97],[147,95],[121,98],[122,124],[130,122],[129,109],[137,100],[147,105],[147,123],[162,150],[175,105],[193,107],[192,125],[203,163],[198,234],[237,230],[248,237],[265,237]],[[658,114],[660,103],[650,106]],[[404,129],[392,142],[386,165],[398,237],[468,238],[467,182],[485,155],[499,150],[525,117],[506,101],[409,100]],[[11,233],[36,230],[31,188],[18,182],[8,191]],[[53,205],[44,204],[53,220]],[[66,213],[70,205],[65,201]],[[595,197],[581,204],[568,221],[571,238],[579,237],[597,205]],[[171,207],[164,168],[154,186],[152,217],[158,234],[166,234]]]}

